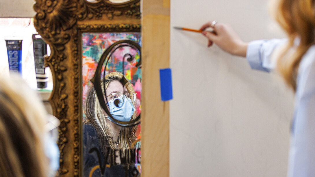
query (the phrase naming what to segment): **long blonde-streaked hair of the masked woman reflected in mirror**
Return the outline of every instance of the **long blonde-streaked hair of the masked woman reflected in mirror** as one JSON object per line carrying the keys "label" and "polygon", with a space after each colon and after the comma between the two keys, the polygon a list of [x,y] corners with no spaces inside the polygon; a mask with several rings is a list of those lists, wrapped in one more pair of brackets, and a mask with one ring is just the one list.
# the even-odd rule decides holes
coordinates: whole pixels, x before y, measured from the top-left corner
{"label": "long blonde-streaked hair of the masked woman reflected in mirror", "polygon": [[[119,81],[121,78],[126,77],[119,73],[119,72],[111,72],[105,76],[105,79],[101,80],[101,87],[103,95],[105,95],[105,89],[108,88],[108,85],[112,81]],[[128,79],[126,79],[128,81]],[[105,89],[103,87],[105,83]],[[128,92],[135,92],[132,84],[129,82],[129,84],[126,86]],[[135,107],[135,102],[133,103]],[[102,110],[100,106],[100,102],[98,100],[98,97],[96,95],[96,91],[94,86],[90,86],[88,89],[88,93],[86,95],[85,99],[85,106],[84,106],[84,113],[86,116],[86,119],[83,121],[83,124],[91,124],[96,129],[98,140],[100,142],[100,148],[102,153],[104,154],[104,157],[106,155],[106,145],[110,145],[111,149],[115,149],[114,142],[111,137],[111,129],[106,123],[106,116],[104,114],[104,111]],[[131,117],[131,120],[134,120],[136,118],[136,111]],[[120,149],[122,150],[122,154],[124,157],[126,157],[126,162],[128,165],[129,162],[131,162],[129,159],[130,152],[133,147],[131,147],[132,143],[135,141],[135,132],[137,130],[137,126],[131,126],[131,127],[122,127],[119,135],[118,135],[118,144]],[[108,147],[108,146],[107,146]],[[125,153],[127,152],[127,154]],[[111,162],[113,163],[113,162]]]}

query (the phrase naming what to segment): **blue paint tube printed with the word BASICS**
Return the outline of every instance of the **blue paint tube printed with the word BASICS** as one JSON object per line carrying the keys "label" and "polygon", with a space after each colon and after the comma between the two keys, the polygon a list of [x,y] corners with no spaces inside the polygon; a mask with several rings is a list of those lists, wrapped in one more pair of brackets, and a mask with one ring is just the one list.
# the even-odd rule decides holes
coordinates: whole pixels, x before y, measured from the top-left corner
{"label": "blue paint tube printed with the word BASICS", "polygon": [[5,40],[7,44],[9,71],[22,75],[22,40]]}

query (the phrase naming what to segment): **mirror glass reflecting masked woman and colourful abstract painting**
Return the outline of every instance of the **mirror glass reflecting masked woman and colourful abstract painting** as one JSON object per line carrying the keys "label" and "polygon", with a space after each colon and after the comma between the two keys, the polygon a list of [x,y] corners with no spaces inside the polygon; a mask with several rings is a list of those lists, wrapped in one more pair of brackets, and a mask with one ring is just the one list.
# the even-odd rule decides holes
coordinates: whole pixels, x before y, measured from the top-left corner
{"label": "mirror glass reflecting masked woman and colourful abstract painting", "polygon": [[[116,47],[100,58],[115,42],[141,44],[140,32],[82,34],[83,174],[84,176],[140,176],[141,68],[140,53],[130,46]],[[102,60],[101,60],[102,62]],[[101,67],[99,86],[90,80]],[[102,97],[97,89],[101,88]],[[100,100],[105,101],[106,108]],[[130,123],[128,123],[130,122]]]}

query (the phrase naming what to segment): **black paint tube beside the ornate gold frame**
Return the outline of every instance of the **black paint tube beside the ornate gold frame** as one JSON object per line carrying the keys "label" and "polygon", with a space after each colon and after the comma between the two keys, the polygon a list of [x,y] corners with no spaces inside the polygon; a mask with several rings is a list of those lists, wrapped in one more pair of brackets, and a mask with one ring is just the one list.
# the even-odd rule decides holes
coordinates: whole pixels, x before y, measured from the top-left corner
{"label": "black paint tube beside the ornate gold frame", "polygon": [[33,34],[32,39],[37,88],[46,88],[48,73],[45,71],[44,56],[47,55],[47,43],[39,34]]}

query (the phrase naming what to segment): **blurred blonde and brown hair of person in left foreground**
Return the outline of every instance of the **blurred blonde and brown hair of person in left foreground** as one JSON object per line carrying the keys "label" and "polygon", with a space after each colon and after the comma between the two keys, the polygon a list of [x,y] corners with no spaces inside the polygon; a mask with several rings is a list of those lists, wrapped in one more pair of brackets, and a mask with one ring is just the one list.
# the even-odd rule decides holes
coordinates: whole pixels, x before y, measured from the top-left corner
{"label": "blurred blonde and brown hair of person in left foreground", "polygon": [[0,77],[0,176],[47,176],[47,113],[38,95],[12,73]]}

